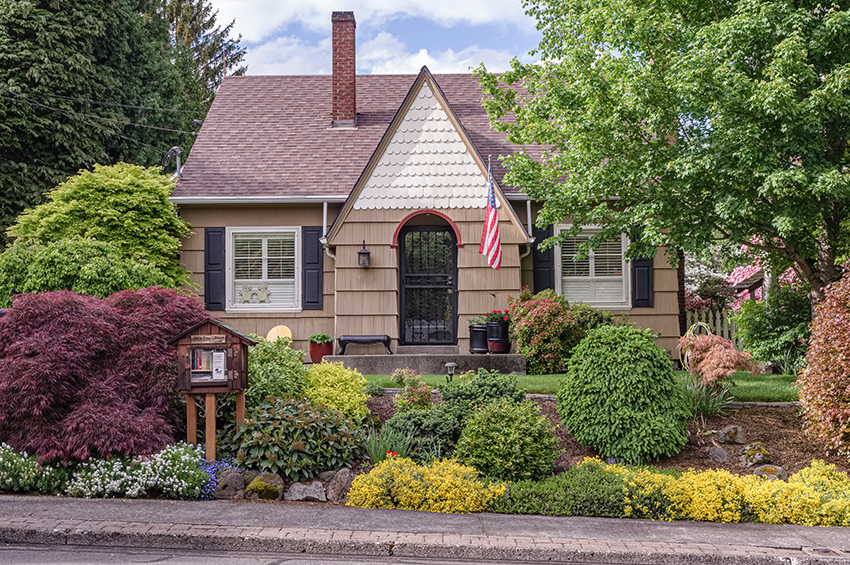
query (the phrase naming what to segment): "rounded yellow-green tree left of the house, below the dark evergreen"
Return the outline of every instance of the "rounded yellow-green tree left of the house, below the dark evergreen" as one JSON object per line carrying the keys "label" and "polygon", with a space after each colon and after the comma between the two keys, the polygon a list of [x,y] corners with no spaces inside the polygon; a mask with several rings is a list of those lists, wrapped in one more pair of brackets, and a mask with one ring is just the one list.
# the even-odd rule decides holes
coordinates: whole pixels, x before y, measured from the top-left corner
{"label": "rounded yellow-green tree left of the house, below the dark evergreen", "polygon": [[174,183],[156,168],[95,165],[56,187],[44,204],[21,214],[9,235],[16,244],[74,237],[112,243],[124,257],[162,271],[174,283],[169,286],[188,284],[177,253],[190,226],[168,200],[173,189]]}

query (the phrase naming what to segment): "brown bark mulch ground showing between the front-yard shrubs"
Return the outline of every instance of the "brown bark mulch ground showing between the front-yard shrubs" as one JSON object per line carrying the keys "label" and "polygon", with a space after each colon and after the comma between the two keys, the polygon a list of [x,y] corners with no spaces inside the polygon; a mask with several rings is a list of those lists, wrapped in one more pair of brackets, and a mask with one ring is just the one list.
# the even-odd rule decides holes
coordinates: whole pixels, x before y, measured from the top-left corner
{"label": "brown bark mulch ground showing between the front-yard shrubs", "polygon": [[[554,399],[537,397],[533,400],[540,405],[543,414],[552,423],[555,435],[561,439],[561,455],[555,462],[556,467],[569,467],[585,457],[596,455],[593,449],[579,444],[561,426]],[[382,422],[390,419],[396,411],[391,396],[370,398],[367,406]],[[772,455],[771,464],[781,466],[789,475],[807,467],[813,459],[822,459],[842,471],[850,472],[848,458],[828,454],[822,446],[803,433],[802,420],[793,406],[746,407],[729,410],[723,416],[711,418],[705,427],[691,423],[688,426],[689,439],[685,449],[678,455],[661,459],[653,465],[683,470],[726,469],[739,475],[750,474],[752,471],[738,461],[738,452],[743,446],[721,446],[715,441],[717,430],[729,424],[744,428],[748,443],[763,443]],[[729,456],[725,463],[719,464],[709,459],[708,450],[711,447],[726,449]]]}

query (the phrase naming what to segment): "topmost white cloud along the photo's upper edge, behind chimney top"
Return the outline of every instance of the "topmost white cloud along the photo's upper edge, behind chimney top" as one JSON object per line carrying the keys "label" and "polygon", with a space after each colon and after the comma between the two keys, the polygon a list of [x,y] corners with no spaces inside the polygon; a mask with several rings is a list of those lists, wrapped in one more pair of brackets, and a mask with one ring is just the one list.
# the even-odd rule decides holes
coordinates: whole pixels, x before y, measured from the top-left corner
{"label": "topmost white cloud along the photo's upper edge, behind chimney top", "polygon": [[353,10],[360,26],[380,26],[391,18],[424,18],[442,27],[505,25],[531,32],[534,22],[520,0],[212,0],[218,21],[236,20],[235,33],[247,43],[259,43],[281,28],[301,24],[311,31],[329,32],[331,12]]}

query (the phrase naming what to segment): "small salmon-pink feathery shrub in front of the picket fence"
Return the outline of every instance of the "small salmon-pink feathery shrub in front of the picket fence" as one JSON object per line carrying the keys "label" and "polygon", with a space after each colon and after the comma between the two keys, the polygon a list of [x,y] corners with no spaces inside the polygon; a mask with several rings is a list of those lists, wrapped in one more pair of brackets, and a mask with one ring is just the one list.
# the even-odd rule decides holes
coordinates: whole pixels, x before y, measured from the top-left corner
{"label": "small salmon-pink feathery shrub in front of the picket fence", "polygon": [[688,355],[688,371],[706,385],[719,385],[737,371],[759,374],[758,363],[745,351],[719,335],[691,335],[679,338],[679,351]]}

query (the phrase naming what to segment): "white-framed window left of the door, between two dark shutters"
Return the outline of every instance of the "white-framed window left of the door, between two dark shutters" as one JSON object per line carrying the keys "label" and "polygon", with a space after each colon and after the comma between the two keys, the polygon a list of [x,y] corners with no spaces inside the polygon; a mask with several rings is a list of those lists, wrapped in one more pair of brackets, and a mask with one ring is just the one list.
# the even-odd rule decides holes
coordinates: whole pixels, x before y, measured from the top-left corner
{"label": "white-framed window left of the door, between two dark shutters", "polygon": [[298,228],[228,228],[228,310],[300,307]]}

